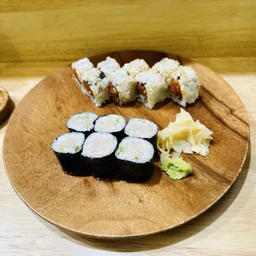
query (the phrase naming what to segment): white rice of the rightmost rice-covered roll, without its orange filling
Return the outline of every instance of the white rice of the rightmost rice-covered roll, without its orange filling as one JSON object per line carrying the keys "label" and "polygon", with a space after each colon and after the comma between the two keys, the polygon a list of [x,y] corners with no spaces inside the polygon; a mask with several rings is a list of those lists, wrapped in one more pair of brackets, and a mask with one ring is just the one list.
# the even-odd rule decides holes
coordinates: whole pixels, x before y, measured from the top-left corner
{"label": "white rice of the rightmost rice-covered roll, without its orange filling", "polygon": [[[173,72],[173,79],[177,79],[182,92],[182,98],[179,99],[175,95],[170,93],[173,102],[177,102],[183,107],[186,107],[187,103],[191,104],[197,100],[199,96],[199,88],[201,86],[197,73],[188,66],[180,66]],[[171,81],[169,81],[171,83]]]}

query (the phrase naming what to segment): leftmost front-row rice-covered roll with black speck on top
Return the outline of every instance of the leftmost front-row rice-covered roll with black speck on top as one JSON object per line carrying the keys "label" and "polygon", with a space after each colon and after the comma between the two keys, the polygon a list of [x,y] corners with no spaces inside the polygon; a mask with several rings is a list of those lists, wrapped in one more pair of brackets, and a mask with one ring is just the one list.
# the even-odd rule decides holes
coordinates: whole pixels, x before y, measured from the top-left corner
{"label": "leftmost front-row rice-covered roll with black speck on top", "polygon": [[104,102],[109,100],[108,92],[109,80],[101,70],[93,68],[83,73],[83,85],[81,87],[83,93],[87,94],[96,107],[102,106]]}

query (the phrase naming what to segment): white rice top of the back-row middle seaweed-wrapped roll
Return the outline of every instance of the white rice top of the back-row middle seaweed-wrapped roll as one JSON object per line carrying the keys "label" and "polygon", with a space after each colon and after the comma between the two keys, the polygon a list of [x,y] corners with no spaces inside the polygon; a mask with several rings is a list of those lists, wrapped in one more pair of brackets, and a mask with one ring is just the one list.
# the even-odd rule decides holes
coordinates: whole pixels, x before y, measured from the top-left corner
{"label": "white rice top of the back-row middle seaweed-wrapped roll", "polygon": [[99,132],[116,132],[123,130],[126,126],[126,119],[119,115],[101,116],[97,119],[94,130]]}

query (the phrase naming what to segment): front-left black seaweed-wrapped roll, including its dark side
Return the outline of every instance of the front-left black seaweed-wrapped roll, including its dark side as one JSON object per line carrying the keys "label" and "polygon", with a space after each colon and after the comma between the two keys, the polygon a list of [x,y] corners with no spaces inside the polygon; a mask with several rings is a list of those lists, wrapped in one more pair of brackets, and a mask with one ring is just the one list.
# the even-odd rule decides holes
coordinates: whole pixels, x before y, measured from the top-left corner
{"label": "front-left black seaweed-wrapped roll, including its dark side", "polygon": [[83,133],[72,132],[60,135],[51,145],[65,173],[75,176],[91,175],[88,165],[84,164],[80,157],[83,142]]}

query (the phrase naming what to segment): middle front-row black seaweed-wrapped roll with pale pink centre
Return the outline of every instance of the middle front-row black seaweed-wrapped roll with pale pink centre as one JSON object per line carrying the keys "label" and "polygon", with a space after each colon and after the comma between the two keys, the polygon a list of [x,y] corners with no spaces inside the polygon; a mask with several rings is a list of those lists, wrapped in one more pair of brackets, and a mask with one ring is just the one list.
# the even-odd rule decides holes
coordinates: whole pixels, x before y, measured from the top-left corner
{"label": "middle front-row black seaweed-wrapped roll with pale pink centre", "polygon": [[116,137],[109,133],[93,132],[83,145],[82,158],[99,179],[115,178],[117,172],[115,150]]}

